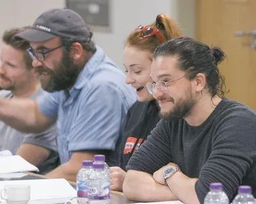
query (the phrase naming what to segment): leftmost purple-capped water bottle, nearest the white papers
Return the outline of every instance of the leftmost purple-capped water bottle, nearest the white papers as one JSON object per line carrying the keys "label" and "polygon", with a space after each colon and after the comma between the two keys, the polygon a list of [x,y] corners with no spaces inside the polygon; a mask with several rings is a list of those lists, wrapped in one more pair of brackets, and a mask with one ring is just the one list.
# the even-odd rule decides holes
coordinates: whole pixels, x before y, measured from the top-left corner
{"label": "leftmost purple-capped water bottle, nearest the white papers", "polygon": [[83,167],[79,170],[76,177],[77,203],[87,204],[89,194],[89,176],[92,173],[92,160],[84,160]]}

